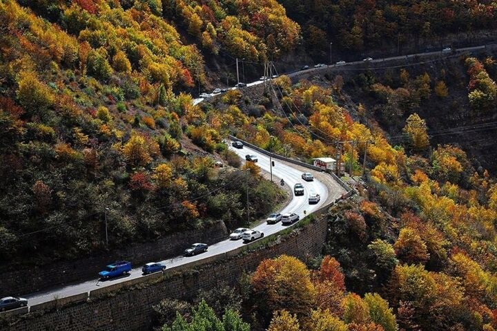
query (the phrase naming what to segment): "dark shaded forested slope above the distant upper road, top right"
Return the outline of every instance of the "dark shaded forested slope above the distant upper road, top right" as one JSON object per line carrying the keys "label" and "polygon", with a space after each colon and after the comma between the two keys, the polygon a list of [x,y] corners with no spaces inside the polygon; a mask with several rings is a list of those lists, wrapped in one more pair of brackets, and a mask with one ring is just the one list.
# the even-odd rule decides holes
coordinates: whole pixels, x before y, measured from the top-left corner
{"label": "dark shaded forested slope above the distant upper road, top right", "polygon": [[[449,33],[496,28],[495,1],[281,1],[302,26],[306,48],[329,54],[329,42],[341,54],[367,52],[383,45],[436,42]],[[439,46],[435,44],[435,46]]]}

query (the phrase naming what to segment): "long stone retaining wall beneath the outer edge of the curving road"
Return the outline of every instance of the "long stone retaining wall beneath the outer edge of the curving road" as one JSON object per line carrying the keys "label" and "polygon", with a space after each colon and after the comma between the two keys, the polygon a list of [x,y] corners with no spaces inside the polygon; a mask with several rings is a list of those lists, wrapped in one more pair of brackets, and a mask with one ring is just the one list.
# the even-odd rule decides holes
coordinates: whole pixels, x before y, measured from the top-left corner
{"label": "long stone retaining wall beneath the outer edge of the curving road", "polygon": [[[0,321],[0,329],[150,330],[153,316],[151,307],[162,299],[192,299],[200,289],[208,290],[222,284],[236,285],[244,272],[253,272],[266,258],[287,254],[307,261],[320,254],[327,237],[326,212],[327,207],[320,209],[313,222],[287,236],[277,238],[269,247],[260,247],[236,256],[226,254],[217,261],[194,269],[179,272],[170,269],[165,276],[155,274],[150,279],[142,279],[142,284],[135,284],[135,288],[99,293],[98,296],[90,292],[88,301],[65,307],[59,305],[48,308],[45,312],[24,315],[21,319],[11,316],[10,321]],[[148,285],[143,282],[148,282]]]}

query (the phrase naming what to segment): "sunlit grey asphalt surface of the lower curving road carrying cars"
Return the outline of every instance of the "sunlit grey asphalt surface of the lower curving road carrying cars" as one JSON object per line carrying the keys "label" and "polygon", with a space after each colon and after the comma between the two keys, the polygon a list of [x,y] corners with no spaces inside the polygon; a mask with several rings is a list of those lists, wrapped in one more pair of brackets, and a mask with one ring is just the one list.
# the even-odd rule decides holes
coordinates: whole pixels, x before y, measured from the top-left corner
{"label": "sunlit grey asphalt surface of the lower curving road carrying cars", "polygon": [[[257,162],[257,165],[263,169],[264,171],[269,171],[269,156],[264,155],[260,153],[259,151],[255,151],[253,149],[250,149],[247,146],[244,146],[243,149],[233,149],[232,146],[230,146],[230,149],[235,151],[237,155],[240,156],[240,158],[245,158],[246,154],[253,154],[257,155],[257,158],[259,159],[259,162]],[[317,178],[324,178],[324,180],[320,181],[318,179],[314,180],[313,182],[305,182],[302,180],[302,167],[295,166],[293,164],[289,164],[286,162],[282,162],[280,160],[274,160],[275,162],[275,167],[273,167],[273,175],[276,176],[277,178],[283,178],[285,185],[289,185],[291,187],[292,195],[293,195],[293,185],[297,182],[302,182],[304,185],[304,196],[292,196],[291,201],[289,202],[286,207],[284,207],[281,212],[294,212],[295,214],[298,214],[300,218],[302,219],[304,215],[309,215],[313,211],[319,209],[322,207],[322,205],[325,203],[326,200],[329,200],[329,198],[338,198],[344,193],[344,189],[342,189],[339,185],[332,185],[325,183],[328,181],[327,178],[323,177],[329,177],[329,175],[324,174],[324,173],[318,173],[317,171],[309,171],[311,173],[315,174],[315,177]],[[308,170],[306,170],[308,171]],[[331,178],[331,176],[330,176]],[[308,202],[308,196],[309,193],[318,193],[321,196],[321,201],[316,204],[316,205],[309,205]],[[275,225],[267,225],[266,223],[262,223],[258,225],[257,227],[254,227],[254,229],[260,230],[264,232],[264,236],[269,236],[270,234],[275,234],[278,231],[281,231],[284,229],[284,227],[281,223],[277,223]],[[168,268],[170,267],[176,267],[178,265],[184,265],[185,263],[189,263],[191,261],[197,261],[197,260],[202,260],[204,258],[207,258],[209,256],[215,256],[218,254],[223,254],[225,252],[229,252],[233,249],[236,249],[238,247],[243,246],[244,243],[242,243],[242,240],[223,240],[219,243],[215,243],[214,245],[211,245],[208,248],[208,252],[204,254],[199,254],[197,256],[190,256],[190,257],[184,257],[184,256],[176,256],[174,258],[168,258],[167,260],[162,261],[162,263],[166,263]],[[111,261],[109,261],[111,262]],[[131,261],[133,263],[133,261]],[[102,268],[104,265],[102,265]],[[135,268],[130,272],[128,276],[124,276],[121,278],[113,278],[109,281],[98,281],[97,280],[97,275],[95,275],[95,280],[92,281],[85,281],[83,283],[75,283],[72,285],[65,285],[61,287],[55,287],[51,290],[45,290],[41,292],[36,292],[32,294],[27,294],[24,295],[23,297],[26,297],[28,299],[29,305],[35,305],[37,303],[44,303],[47,301],[52,301],[54,299],[61,299],[67,296],[72,296],[75,294],[81,294],[84,292],[90,292],[91,290],[96,290],[101,287],[106,287],[108,285],[113,285],[115,283],[121,283],[124,281],[128,281],[130,279],[134,278],[139,278],[142,277],[142,265],[135,265]]]}

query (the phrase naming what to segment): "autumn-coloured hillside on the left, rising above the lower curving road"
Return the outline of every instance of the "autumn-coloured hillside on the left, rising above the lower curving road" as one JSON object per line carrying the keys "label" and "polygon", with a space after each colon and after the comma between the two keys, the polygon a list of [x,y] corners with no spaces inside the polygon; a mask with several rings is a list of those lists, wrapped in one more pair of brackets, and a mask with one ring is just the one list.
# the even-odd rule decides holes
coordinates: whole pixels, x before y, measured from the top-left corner
{"label": "autumn-coloured hillside on the left, rising above the lower curving road", "polygon": [[[47,263],[213,220],[245,223],[242,171],[215,169],[220,154],[191,144],[231,155],[191,96],[173,93],[204,70],[161,8],[30,5],[61,25],[0,2],[2,261]],[[253,217],[281,198],[258,176],[249,184]]]}

